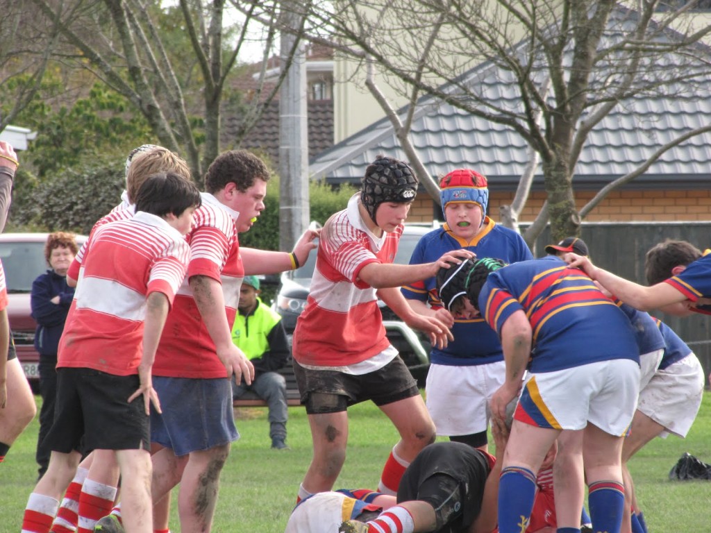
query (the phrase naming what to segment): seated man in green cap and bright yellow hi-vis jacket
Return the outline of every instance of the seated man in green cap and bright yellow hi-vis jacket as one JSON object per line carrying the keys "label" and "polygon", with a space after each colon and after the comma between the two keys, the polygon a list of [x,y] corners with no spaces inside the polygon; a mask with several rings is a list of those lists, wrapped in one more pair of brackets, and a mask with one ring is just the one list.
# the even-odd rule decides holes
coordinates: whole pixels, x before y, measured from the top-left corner
{"label": "seated man in green cap and bright yellow hi-vis jacket", "polygon": [[272,448],[287,446],[287,382],[279,369],[289,360],[289,343],[282,317],[260,300],[260,280],[245,276],[240,289],[232,342],[250,358],[255,367],[252,384],[232,382],[232,399],[251,390],[269,407],[269,436]]}

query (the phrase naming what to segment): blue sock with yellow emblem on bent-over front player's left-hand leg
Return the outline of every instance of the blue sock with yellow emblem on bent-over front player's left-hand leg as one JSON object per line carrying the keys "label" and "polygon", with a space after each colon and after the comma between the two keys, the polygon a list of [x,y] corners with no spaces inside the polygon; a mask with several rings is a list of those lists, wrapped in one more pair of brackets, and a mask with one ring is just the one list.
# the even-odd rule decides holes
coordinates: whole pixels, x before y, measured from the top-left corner
{"label": "blue sock with yellow emblem on bent-over front player's left-hand leg", "polygon": [[501,470],[498,485],[499,533],[520,533],[528,527],[534,497],[533,472],[518,466]]}

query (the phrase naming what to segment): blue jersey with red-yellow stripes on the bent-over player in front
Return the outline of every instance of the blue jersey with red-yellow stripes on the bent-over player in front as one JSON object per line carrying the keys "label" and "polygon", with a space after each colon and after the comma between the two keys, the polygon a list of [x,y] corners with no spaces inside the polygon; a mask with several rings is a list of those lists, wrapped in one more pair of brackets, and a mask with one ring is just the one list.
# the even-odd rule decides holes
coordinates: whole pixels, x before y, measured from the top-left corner
{"label": "blue jersey with red-yellow stripes on the bent-over player in front", "polygon": [[492,328],[523,310],[533,329],[532,372],[613,359],[639,362],[631,323],[592,279],[557,257],[510,264],[489,274],[479,309]]}

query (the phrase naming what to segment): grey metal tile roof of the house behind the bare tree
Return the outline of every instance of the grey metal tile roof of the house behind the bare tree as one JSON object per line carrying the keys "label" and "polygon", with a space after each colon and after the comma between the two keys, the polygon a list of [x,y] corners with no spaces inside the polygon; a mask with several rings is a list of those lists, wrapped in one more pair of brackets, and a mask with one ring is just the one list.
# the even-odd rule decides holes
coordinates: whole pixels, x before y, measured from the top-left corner
{"label": "grey metal tile roof of the house behind the bare tree", "polygon": [[[518,92],[508,78],[506,72],[491,65],[480,65],[463,76],[467,83],[481,84],[479,90],[497,107],[518,109]],[[711,87],[711,75],[705,85]],[[674,96],[621,102],[591,131],[575,168],[577,187],[597,188],[624,176],[683,132],[711,124],[708,92],[702,97],[679,96],[671,90],[668,94]],[[400,110],[401,116],[404,112]],[[515,131],[432,97],[418,102],[410,139],[434,177],[471,166],[501,188],[515,188],[527,161],[527,145]],[[365,166],[380,153],[407,159],[387,118],[313,158],[309,172],[328,183],[358,182]],[[708,187],[710,179],[711,134],[707,133],[667,151],[633,183],[636,187],[668,187],[673,180],[675,187]],[[542,183],[540,167],[534,183]]]}

